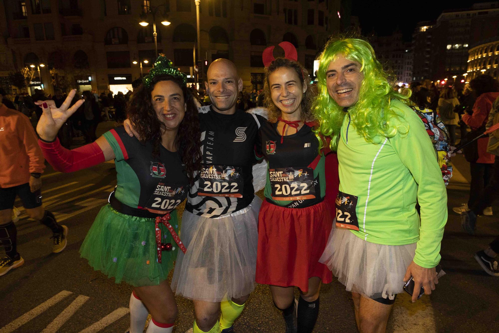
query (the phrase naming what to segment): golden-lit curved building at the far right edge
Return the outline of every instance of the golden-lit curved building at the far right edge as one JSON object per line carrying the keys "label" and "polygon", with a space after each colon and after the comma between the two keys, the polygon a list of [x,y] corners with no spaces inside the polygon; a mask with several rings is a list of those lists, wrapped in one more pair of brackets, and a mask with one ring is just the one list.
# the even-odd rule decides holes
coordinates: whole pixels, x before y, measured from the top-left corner
{"label": "golden-lit curved building at the far right edge", "polygon": [[469,51],[466,80],[470,81],[481,74],[488,74],[498,79],[499,36],[472,45]]}

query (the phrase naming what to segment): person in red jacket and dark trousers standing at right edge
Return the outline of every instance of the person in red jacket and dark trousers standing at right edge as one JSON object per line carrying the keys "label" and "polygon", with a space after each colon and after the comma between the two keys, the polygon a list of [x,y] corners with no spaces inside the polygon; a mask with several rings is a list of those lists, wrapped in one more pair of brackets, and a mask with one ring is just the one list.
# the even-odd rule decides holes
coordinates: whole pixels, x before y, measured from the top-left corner
{"label": "person in red jacket and dark trousers standing at right edge", "polygon": [[[466,134],[467,141],[485,131],[492,105],[499,96],[499,82],[490,75],[480,75],[474,78],[470,81],[470,86],[475,91],[477,99],[471,112],[467,109],[467,112],[462,117],[463,122],[472,129],[471,132]],[[474,207],[478,201],[484,199],[480,196],[480,193],[489,183],[495,160],[495,156],[487,151],[488,143],[489,136],[486,136],[463,149],[466,160],[470,162],[470,197],[467,203],[462,203],[461,206],[452,208],[458,214],[469,211],[470,207]],[[492,207],[486,207],[483,213],[484,215],[492,215]]]}

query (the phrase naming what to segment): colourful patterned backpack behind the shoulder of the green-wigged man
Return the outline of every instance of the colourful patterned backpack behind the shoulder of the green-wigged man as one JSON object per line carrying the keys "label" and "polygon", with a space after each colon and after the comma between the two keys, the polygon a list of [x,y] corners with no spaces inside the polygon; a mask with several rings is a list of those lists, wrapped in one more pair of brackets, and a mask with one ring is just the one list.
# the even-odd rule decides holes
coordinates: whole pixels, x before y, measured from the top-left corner
{"label": "colourful patterned backpack behind the shoulder of the green-wigged man", "polygon": [[452,165],[449,156],[449,131],[437,112],[419,106],[411,106],[411,108],[421,118],[425,124],[426,132],[432,139],[437,152],[438,164],[442,170],[442,178],[447,186],[449,185],[449,179],[452,177]]}

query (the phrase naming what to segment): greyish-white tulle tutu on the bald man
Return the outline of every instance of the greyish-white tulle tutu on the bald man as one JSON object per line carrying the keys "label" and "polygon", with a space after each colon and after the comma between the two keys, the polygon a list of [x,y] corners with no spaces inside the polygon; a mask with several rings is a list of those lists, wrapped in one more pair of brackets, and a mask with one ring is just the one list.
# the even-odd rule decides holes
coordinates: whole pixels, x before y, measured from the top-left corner
{"label": "greyish-white tulle tutu on the bald man", "polygon": [[261,199],[218,218],[184,211],[172,290],[186,298],[219,302],[248,295],[254,289],[258,211]]}

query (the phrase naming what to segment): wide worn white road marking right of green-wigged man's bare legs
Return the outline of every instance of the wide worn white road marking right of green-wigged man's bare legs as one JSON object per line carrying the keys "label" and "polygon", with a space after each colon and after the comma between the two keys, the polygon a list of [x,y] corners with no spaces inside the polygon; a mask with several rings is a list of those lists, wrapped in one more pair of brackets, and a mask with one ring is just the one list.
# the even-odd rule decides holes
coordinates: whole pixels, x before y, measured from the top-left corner
{"label": "wide worn white road marking right of green-wigged man's bare legs", "polygon": [[415,303],[408,293],[399,293],[392,308],[390,320],[393,332],[434,333],[437,331],[433,307],[428,295],[423,295]]}

